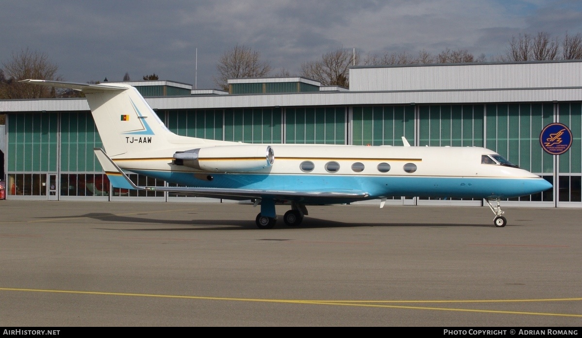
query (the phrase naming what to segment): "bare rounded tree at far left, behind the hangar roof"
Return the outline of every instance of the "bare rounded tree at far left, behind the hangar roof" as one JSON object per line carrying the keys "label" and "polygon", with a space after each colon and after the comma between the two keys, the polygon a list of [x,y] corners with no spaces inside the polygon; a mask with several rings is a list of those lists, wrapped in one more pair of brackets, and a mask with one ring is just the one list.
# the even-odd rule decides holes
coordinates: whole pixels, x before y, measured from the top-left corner
{"label": "bare rounded tree at far left, behind the hangar roof", "polygon": [[0,98],[49,98],[55,97],[54,88],[44,86],[29,86],[19,83],[20,80],[40,79],[62,81],[57,75],[59,67],[49,60],[42,52],[31,51],[29,48],[20,52],[12,52],[12,58],[2,62],[6,81],[0,83]]}

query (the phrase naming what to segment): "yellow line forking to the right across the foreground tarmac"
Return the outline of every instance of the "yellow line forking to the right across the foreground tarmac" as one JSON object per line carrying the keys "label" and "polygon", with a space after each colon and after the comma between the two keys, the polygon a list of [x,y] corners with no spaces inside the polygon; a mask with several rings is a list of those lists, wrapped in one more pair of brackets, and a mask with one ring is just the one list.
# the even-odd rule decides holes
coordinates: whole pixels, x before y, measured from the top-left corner
{"label": "yellow line forking to the right across the foreground tarmac", "polygon": [[44,290],[44,289],[16,289],[9,287],[0,287],[2,291],[29,291],[45,293],[68,293],[68,294],[93,294],[99,296],[133,296],[133,297],[157,297],[157,298],[181,298],[196,300],[226,300],[226,301],[254,301],[262,303],[290,303],[290,304],[311,304],[311,305],[343,305],[352,307],[375,307],[375,308],[399,308],[399,309],[423,309],[438,311],[461,311],[461,312],[482,312],[495,314],[517,314],[517,315],[541,315],[541,316],[565,316],[580,317],[579,314],[552,314],[546,312],[525,312],[525,311],[503,311],[503,310],[485,310],[485,309],[462,309],[462,308],[435,308],[435,307],[414,307],[407,305],[384,305],[384,304],[367,304],[367,303],[501,303],[501,302],[523,302],[523,301],[577,301],[582,298],[555,298],[540,300],[461,300],[461,301],[324,301],[324,300],[282,300],[282,299],[260,299],[260,298],[230,298],[230,297],[201,297],[201,296],[172,296],[165,294],[142,294],[142,293],[117,293],[117,292],[98,292],[98,291],[72,291],[72,290]]}

